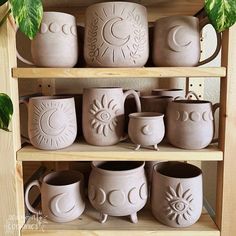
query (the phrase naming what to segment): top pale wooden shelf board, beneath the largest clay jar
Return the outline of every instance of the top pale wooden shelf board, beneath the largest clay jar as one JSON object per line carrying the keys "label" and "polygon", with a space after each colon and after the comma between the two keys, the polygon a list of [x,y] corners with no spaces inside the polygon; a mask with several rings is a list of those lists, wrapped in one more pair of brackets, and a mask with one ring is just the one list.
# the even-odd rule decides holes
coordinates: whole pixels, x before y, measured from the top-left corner
{"label": "top pale wooden shelf board, beneath the largest clay jar", "polygon": [[15,78],[224,77],[225,67],[13,68]]}

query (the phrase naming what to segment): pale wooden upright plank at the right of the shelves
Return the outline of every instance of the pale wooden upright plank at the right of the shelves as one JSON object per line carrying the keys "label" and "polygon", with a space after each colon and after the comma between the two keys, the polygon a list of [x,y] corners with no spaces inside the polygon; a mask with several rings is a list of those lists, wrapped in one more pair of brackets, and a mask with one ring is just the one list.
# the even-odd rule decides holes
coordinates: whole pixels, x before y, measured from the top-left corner
{"label": "pale wooden upright plank at the right of the shelves", "polygon": [[221,236],[236,235],[236,25],[223,32],[222,65],[227,67],[221,79],[220,148],[224,162],[218,163],[216,223]]}

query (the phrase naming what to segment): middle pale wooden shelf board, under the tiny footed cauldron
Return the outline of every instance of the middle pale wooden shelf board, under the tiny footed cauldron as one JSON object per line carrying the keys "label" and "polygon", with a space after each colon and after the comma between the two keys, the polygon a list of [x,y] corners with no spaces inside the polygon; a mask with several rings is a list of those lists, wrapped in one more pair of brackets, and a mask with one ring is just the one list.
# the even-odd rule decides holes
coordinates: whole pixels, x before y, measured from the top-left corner
{"label": "middle pale wooden shelf board, under the tiny footed cauldron", "polygon": [[114,146],[99,147],[76,142],[68,148],[57,151],[45,151],[31,145],[23,147],[17,153],[18,161],[98,161],[98,160],[190,160],[220,161],[223,152],[216,145],[202,150],[184,150],[167,144],[159,145],[160,151],[141,148],[134,151],[134,144],[121,142]]}

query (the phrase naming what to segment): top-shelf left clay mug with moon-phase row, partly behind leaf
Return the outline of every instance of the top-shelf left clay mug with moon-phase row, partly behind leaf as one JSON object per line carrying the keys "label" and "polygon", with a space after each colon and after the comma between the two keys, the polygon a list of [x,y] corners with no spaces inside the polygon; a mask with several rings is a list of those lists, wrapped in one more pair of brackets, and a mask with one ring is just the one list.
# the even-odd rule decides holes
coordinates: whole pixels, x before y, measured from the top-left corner
{"label": "top-shelf left clay mug with moon-phase row, partly behind leaf", "polygon": [[78,60],[76,19],[62,12],[44,12],[39,32],[31,42],[33,62],[17,53],[18,59],[41,67],[73,67]]}

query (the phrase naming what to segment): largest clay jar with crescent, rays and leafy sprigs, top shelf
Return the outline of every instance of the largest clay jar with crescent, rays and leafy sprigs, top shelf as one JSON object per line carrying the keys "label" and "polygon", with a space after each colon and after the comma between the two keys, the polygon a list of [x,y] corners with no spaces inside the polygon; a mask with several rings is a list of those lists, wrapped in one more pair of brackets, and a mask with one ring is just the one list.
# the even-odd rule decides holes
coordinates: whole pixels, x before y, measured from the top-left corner
{"label": "largest clay jar with crescent, rays and leafy sprigs, top shelf", "polygon": [[84,52],[92,67],[144,66],[149,54],[146,8],[131,2],[88,7]]}

